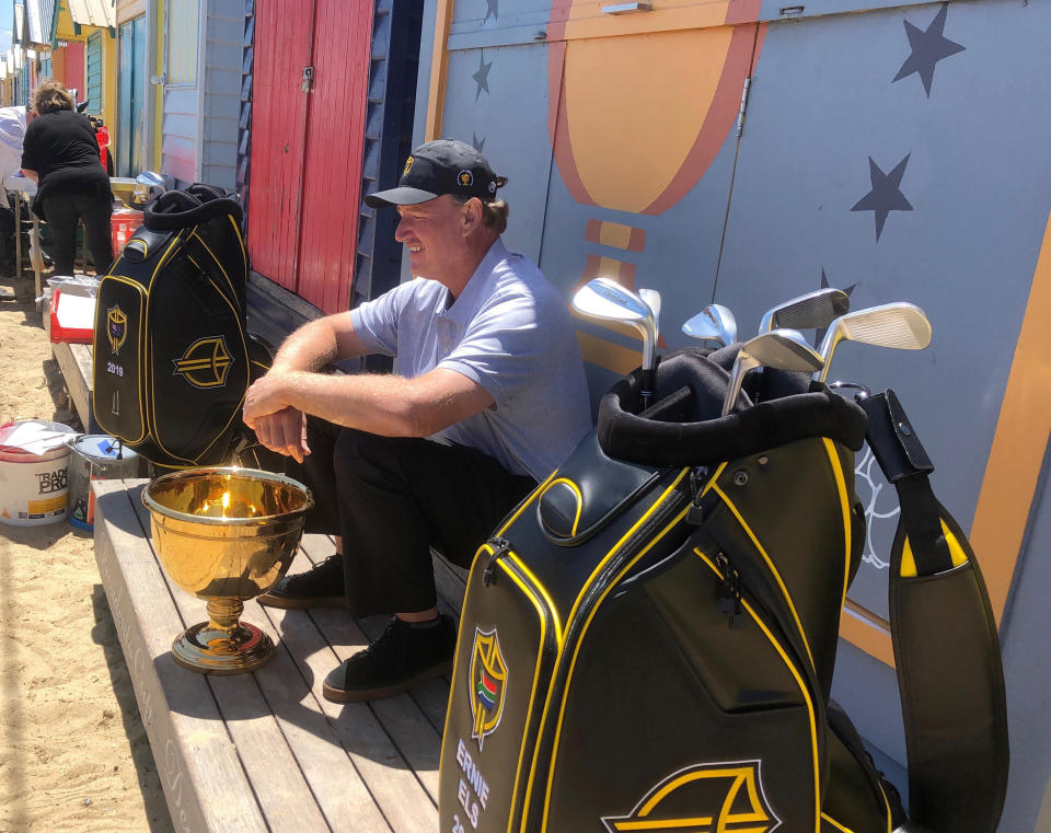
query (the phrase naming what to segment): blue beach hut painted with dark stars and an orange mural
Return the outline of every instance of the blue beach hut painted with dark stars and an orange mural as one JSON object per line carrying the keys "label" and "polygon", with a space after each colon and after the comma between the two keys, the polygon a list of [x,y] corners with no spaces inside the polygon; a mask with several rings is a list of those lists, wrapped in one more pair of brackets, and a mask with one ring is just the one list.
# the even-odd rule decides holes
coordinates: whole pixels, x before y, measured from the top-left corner
{"label": "blue beach hut painted with dark stars and an orange mural", "polygon": [[[509,177],[508,244],[567,296],[598,275],[659,290],[668,348],[688,346],[681,324],[713,301],[736,313],[742,339],[776,302],[829,285],[854,309],[926,311],[925,352],[854,347],[830,379],[893,386],[938,466],[1001,623],[1012,731],[1001,830],[1048,830],[1051,342],[1038,322],[1051,314],[1051,112],[1017,79],[1051,70],[1051,5],[434,8],[415,140],[484,148]],[[580,322],[579,338],[596,392],[638,365],[634,337]],[[832,694],[904,785],[887,629],[899,509],[870,455],[855,476],[867,543]]]}

